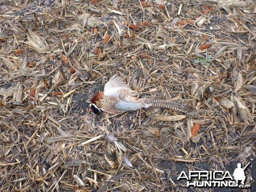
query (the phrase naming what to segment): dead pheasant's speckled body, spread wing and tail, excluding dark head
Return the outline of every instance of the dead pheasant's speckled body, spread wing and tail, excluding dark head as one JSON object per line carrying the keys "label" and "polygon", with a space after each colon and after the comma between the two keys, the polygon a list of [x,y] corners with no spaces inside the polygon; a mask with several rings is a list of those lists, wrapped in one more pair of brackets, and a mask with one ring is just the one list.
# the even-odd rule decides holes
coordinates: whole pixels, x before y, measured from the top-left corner
{"label": "dead pheasant's speckled body, spread wing and tail, excluding dark head", "polygon": [[136,95],[138,95],[137,91],[131,90],[125,81],[120,77],[113,76],[106,83],[104,92],[99,92],[93,96],[92,103],[102,111],[111,114],[137,111],[141,108],[161,107],[172,108],[175,111],[191,115],[189,105],[160,99],[138,99]]}

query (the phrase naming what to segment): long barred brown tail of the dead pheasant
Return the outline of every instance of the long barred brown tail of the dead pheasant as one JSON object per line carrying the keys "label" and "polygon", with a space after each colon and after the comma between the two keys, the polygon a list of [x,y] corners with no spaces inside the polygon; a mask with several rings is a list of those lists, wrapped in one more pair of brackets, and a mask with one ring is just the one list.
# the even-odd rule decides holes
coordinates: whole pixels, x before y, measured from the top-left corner
{"label": "long barred brown tail of the dead pheasant", "polygon": [[192,114],[192,108],[188,104],[181,104],[168,100],[157,100],[157,99],[145,99],[144,102],[149,104],[150,107],[160,107],[160,108],[171,108],[175,111],[190,115],[197,118],[196,114]]}

